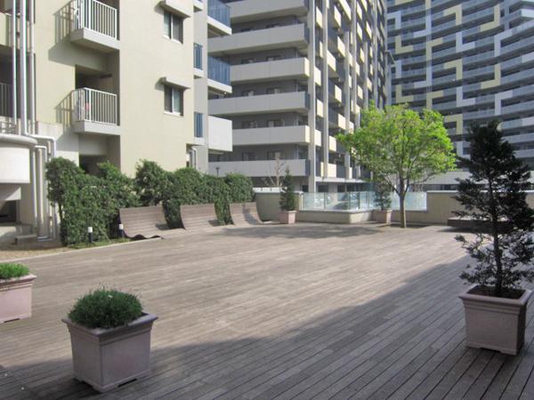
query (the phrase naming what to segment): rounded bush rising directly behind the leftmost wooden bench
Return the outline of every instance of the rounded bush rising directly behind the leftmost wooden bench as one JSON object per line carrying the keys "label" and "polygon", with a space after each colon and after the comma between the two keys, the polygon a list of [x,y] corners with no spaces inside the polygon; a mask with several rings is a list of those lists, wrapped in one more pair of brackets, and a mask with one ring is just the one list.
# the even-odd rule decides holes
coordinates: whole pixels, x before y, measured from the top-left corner
{"label": "rounded bush rising directly behind the leftmost wooden bench", "polygon": [[158,205],[164,200],[170,184],[169,172],[158,163],[142,160],[135,168],[135,189],[142,205]]}

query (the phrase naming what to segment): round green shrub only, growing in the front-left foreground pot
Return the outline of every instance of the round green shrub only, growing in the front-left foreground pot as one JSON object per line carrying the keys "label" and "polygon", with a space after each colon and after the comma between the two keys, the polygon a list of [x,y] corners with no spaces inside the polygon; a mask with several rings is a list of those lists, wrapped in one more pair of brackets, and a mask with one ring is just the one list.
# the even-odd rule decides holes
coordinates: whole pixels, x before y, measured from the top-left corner
{"label": "round green shrub only, growing in the front-left foreground pot", "polygon": [[124,326],[142,316],[141,301],[132,293],[97,289],[78,299],[70,320],[89,329]]}

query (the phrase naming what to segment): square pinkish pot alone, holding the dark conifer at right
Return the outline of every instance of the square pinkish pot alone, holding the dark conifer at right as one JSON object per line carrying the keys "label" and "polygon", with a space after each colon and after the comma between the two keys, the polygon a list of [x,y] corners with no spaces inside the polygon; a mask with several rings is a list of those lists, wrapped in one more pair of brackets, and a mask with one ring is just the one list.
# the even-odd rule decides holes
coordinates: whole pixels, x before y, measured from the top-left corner
{"label": "square pinkish pot alone, holding the dark conifer at right", "polygon": [[473,284],[460,295],[465,308],[466,346],[515,356],[524,342],[525,315],[532,291],[523,291],[519,299],[480,293],[481,286]]}

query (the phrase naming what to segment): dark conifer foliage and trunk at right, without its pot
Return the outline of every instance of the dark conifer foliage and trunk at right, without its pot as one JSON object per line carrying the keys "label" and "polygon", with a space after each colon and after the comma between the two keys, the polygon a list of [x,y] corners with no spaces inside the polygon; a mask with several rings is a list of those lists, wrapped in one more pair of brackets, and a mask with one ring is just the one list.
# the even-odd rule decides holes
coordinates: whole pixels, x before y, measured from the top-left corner
{"label": "dark conifer foliage and trunk at right, without its pot", "polygon": [[530,188],[529,168],[503,140],[497,121],[473,126],[469,139],[471,158],[460,158],[460,165],[471,176],[459,180],[455,198],[464,211],[455,213],[473,220],[474,238],[460,235],[457,240],[476,265],[468,265],[461,277],[490,287],[496,297],[509,297],[523,279],[534,278],[534,211],[525,192]]}

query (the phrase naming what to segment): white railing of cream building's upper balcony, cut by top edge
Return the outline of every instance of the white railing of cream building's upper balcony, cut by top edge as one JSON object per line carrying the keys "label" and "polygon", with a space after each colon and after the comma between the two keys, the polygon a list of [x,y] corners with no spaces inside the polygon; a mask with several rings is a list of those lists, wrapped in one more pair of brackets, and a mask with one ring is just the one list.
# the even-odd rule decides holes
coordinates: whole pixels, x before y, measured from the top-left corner
{"label": "white railing of cream building's upper balcony, cut by top edge", "polygon": [[118,39],[117,9],[97,0],[74,0],[74,28],[86,28]]}

